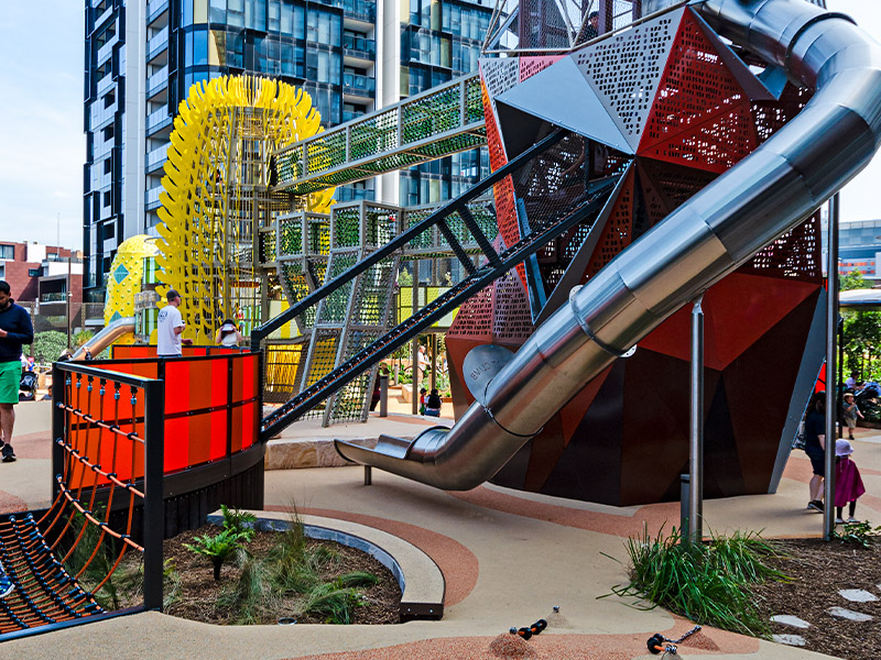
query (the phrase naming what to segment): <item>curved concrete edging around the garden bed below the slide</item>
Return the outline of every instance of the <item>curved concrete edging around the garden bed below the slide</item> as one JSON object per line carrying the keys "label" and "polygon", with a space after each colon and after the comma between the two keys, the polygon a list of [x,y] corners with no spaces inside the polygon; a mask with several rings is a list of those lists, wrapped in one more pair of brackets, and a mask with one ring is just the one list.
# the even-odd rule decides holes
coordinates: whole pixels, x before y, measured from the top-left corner
{"label": "curved concrete edging around the garden bed below the slide", "polygon": [[[257,516],[253,525],[261,531],[283,531],[291,527],[291,514],[251,512]],[[303,529],[311,539],[336,541],[367,552],[389,569],[401,587],[401,620],[439,619],[444,616],[446,583],[437,564],[425,552],[404,539],[358,522],[300,516]],[[208,515],[208,522],[222,525],[220,512]]]}

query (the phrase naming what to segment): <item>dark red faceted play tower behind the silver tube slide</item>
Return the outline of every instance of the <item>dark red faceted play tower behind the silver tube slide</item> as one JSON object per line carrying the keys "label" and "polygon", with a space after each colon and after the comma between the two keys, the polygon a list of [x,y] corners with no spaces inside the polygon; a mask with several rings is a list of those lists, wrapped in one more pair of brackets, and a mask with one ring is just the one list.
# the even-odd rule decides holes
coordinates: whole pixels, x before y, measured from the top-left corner
{"label": "dark red faceted play tower behind the silver tube slide", "polygon": [[[576,77],[568,73],[573,64]],[[497,66],[510,67],[504,85],[496,72],[492,87],[500,89],[513,77],[513,67]],[[499,213],[505,244],[505,234],[519,238],[518,208],[525,209],[520,221],[530,229],[535,219],[562,217],[566,207],[577,208],[584,190],[598,178],[622,177],[596,220],[561,234],[536,254],[547,299],[539,322],[565,305],[564,289],[607,267],[755,151],[811,98],[809,91],[787,85],[774,99],[733,51],[685,8],[595,41],[561,62],[548,65],[546,58],[523,57],[519,67],[525,81],[499,99],[502,119],[523,134],[532,135],[523,128],[530,121],[578,134],[536,157],[532,170],[523,168],[505,179],[504,200],[497,186],[497,205],[510,205],[508,228],[502,227],[504,213]],[[575,98],[570,87],[578,77],[589,88],[579,90],[589,94],[589,103],[566,101]],[[562,80],[565,90],[559,88]],[[497,122],[489,87],[485,108],[494,170],[507,162],[500,130],[508,124]],[[578,112],[584,117],[575,127]],[[588,133],[583,125],[592,122],[597,131],[609,121],[629,150],[616,151],[602,146],[608,142],[600,138],[584,136]],[[814,216],[705,293],[707,497],[772,486],[823,286],[819,250],[819,218]],[[530,323],[523,282],[513,288],[523,300],[518,314],[525,329]],[[498,334],[508,327],[508,317],[492,295],[463,306],[465,314],[452,329],[447,343],[459,371],[470,348],[502,343]],[[489,316],[483,318],[486,311]],[[612,505],[678,499],[679,473],[688,459],[689,338],[690,305],[655,328],[632,358],[613,362],[563,405],[493,483]],[[524,333],[504,338],[509,345],[524,339]],[[458,411],[463,395],[454,395]]]}

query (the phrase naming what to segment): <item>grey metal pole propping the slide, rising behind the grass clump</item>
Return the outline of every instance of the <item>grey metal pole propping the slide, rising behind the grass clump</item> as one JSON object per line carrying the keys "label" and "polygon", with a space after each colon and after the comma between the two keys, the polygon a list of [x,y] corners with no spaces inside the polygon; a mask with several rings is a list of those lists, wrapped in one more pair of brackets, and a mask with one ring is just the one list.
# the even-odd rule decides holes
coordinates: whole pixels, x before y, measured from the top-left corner
{"label": "grey metal pole propping the slide, rising behind the grass clump", "polygon": [[692,308],[692,398],[688,457],[688,540],[704,538],[704,310],[700,295]]}

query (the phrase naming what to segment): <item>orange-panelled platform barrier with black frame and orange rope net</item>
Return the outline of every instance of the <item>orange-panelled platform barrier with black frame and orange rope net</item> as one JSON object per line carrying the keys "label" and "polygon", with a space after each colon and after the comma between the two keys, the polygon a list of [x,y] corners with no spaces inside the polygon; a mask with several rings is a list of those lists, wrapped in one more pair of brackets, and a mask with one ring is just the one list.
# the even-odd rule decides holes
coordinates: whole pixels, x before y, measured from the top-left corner
{"label": "orange-panelled platform barrier with black frame and orange rope net", "polygon": [[[262,508],[260,354],[113,352],[120,359],[53,366],[53,504],[0,518],[14,585],[0,600],[0,641],[161,608],[165,538],[220,504]],[[139,605],[117,598],[120,566],[141,580]]]}

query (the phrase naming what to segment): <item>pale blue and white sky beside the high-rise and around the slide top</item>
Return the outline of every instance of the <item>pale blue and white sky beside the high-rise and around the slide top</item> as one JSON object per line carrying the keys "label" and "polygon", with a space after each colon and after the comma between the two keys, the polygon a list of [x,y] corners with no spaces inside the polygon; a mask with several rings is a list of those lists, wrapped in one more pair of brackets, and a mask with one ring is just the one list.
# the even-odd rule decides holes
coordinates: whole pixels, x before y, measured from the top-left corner
{"label": "pale blue and white sky beside the high-rise and around the slide top", "polygon": [[[881,2],[827,0],[881,41]],[[3,2],[0,240],[83,246],[84,3]],[[35,26],[39,25],[39,26]],[[841,193],[842,220],[881,218],[881,157]]]}

